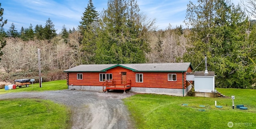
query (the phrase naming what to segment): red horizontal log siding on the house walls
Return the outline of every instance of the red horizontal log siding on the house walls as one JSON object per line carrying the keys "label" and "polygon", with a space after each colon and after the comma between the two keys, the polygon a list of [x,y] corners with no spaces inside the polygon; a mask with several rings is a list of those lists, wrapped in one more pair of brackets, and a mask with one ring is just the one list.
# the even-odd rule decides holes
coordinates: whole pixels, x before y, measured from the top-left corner
{"label": "red horizontal log siding on the house walls", "polygon": [[[116,66],[105,72],[69,72],[67,73],[67,83],[74,86],[102,86],[104,82],[100,82],[100,74],[109,73],[112,74],[113,80],[121,80],[121,72],[126,72],[127,80],[131,80],[132,87],[182,89],[183,86],[184,88],[189,86],[186,82],[186,72],[192,72],[192,68],[189,67],[186,72],[134,72]],[[77,79],[77,74],[80,73],[83,74],[82,80]],[[136,74],[143,74],[143,82],[136,82]],[[168,81],[168,74],[176,74],[176,81]]]}

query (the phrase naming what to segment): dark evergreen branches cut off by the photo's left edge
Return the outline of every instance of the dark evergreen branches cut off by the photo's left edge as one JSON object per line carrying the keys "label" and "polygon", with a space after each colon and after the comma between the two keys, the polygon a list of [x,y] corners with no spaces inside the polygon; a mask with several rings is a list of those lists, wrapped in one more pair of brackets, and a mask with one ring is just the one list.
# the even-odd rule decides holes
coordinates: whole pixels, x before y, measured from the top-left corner
{"label": "dark evergreen branches cut off by the photo's left edge", "polygon": [[[0,3],[0,27],[1,27],[1,30],[4,30],[3,29],[3,26],[4,24],[7,23],[7,20],[3,20],[3,14],[4,14],[4,9],[1,8],[1,3]],[[4,40],[4,37],[2,37],[2,31],[1,31],[1,35],[0,35],[0,57],[4,54],[1,49],[4,48],[4,46],[6,45],[6,40]],[[0,58],[0,61],[1,61],[1,58]]]}

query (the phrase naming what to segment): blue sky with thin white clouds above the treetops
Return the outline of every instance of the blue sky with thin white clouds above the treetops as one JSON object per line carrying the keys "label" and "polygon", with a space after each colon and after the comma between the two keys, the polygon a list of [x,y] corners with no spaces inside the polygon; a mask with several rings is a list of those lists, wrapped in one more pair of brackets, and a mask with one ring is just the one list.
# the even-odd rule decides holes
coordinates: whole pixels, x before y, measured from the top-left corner
{"label": "blue sky with thin white clouds above the treetops", "polygon": [[[196,0],[191,1],[196,3]],[[235,4],[238,1],[233,0]],[[150,19],[156,18],[158,29],[166,29],[169,23],[172,27],[184,26],[188,2],[189,0],[137,0],[141,12]],[[50,18],[59,33],[63,25],[67,29],[78,27],[88,0],[1,0],[0,3],[1,8],[4,8],[4,20],[8,20],[4,25],[6,31],[12,23],[20,31],[22,26],[28,28],[30,23],[33,28],[36,24],[44,26]],[[108,0],[93,0],[99,13],[107,8],[107,3]]]}

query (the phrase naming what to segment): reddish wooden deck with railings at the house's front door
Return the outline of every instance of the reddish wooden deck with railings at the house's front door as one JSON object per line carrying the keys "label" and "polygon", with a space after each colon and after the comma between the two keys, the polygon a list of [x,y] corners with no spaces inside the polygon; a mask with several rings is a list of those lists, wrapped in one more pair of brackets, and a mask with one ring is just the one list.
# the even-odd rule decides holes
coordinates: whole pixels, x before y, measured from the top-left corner
{"label": "reddish wooden deck with railings at the house's front door", "polygon": [[[104,89],[104,86],[106,88]],[[108,90],[128,90],[131,88],[131,80],[111,80],[106,81],[102,84],[102,90],[103,92],[106,92]]]}

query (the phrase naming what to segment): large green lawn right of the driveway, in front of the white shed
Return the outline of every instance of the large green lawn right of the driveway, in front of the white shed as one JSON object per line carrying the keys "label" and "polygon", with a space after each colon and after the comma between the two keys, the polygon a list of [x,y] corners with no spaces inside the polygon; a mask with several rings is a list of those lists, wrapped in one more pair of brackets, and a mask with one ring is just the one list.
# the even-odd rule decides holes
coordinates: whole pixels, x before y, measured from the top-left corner
{"label": "large green lawn right of the driveway, in front of the white shed", "polygon": [[[124,99],[138,129],[225,129],[232,121],[234,129],[256,128],[255,90],[217,89],[227,98],[178,97],[158,94],[137,94]],[[232,109],[244,104],[248,110]],[[217,105],[223,108],[215,107]],[[188,106],[182,106],[188,104]],[[203,105],[205,107],[200,107]],[[205,111],[199,111],[205,109]],[[251,126],[241,125],[252,123]],[[240,125],[239,125],[240,124]]]}

